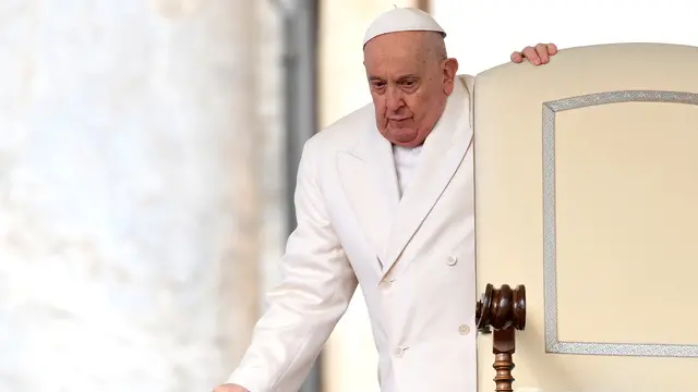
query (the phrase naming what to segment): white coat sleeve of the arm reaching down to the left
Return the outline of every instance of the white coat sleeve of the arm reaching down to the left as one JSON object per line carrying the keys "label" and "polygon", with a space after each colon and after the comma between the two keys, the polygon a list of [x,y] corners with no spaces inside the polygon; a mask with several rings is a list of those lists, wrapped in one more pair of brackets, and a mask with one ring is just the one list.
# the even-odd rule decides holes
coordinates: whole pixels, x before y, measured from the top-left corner
{"label": "white coat sleeve of the arm reaching down to the left", "polygon": [[228,379],[251,392],[297,392],[357,289],[357,278],[335,234],[317,184],[309,140],[299,166],[298,226],[281,260],[281,283],[267,295],[250,347]]}

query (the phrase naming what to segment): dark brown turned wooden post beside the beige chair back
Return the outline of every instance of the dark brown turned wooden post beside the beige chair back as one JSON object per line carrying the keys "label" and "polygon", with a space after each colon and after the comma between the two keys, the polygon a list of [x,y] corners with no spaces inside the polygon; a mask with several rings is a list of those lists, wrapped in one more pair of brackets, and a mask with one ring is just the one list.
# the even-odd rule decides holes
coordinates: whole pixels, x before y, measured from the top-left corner
{"label": "dark brown turned wooden post beside the beige chair back", "polygon": [[490,283],[476,306],[476,322],[478,330],[490,333],[490,327],[494,329],[492,336],[492,352],[494,353],[495,391],[513,392],[514,360],[512,355],[516,351],[516,330],[526,328],[526,287],[518,285],[512,290],[508,284],[494,289]]}

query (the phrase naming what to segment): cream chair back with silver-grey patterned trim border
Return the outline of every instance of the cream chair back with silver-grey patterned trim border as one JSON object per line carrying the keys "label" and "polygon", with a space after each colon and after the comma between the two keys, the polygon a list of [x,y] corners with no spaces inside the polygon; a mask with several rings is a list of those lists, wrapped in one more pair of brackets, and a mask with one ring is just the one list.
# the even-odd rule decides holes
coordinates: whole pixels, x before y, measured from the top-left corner
{"label": "cream chair back with silver-grey patterned trim border", "polygon": [[528,292],[515,390],[698,391],[698,48],[562,50],[474,97],[478,290]]}

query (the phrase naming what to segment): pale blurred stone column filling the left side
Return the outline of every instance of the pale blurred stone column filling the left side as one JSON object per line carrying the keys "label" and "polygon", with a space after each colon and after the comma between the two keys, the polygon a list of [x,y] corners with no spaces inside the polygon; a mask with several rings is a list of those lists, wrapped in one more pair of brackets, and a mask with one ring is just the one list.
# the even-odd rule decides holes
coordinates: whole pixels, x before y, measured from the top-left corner
{"label": "pale blurred stone column filling the left side", "polygon": [[266,197],[255,10],[5,2],[1,391],[207,391],[232,370]]}

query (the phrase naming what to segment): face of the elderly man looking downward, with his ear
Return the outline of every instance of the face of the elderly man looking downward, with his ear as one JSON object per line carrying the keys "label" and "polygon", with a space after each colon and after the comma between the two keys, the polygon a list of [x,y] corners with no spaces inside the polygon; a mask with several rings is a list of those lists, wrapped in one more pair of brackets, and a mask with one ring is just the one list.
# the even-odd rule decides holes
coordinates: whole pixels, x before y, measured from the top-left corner
{"label": "face of the elderly man looking downward, with his ear", "polygon": [[375,37],[364,48],[364,66],[381,134],[404,147],[422,144],[444,111],[458,69],[456,60],[445,59],[441,36]]}

